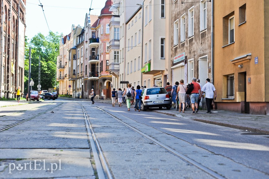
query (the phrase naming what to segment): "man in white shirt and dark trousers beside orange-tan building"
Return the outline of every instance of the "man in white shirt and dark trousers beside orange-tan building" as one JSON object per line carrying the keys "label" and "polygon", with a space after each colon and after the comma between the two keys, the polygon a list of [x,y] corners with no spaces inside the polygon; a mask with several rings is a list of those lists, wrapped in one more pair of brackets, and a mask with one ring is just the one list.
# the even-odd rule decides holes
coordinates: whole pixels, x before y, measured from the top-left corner
{"label": "man in white shirt and dark trousers beside orange-tan building", "polygon": [[207,107],[207,114],[211,113],[211,104],[213,101],[213,98],[217,97],[216,89],[212,83],[210,83],[210,79],[207,78],[205,85],[202,87],[201,91],[202,94],[205,92],[205,102],[206,102],[206,107]]}

